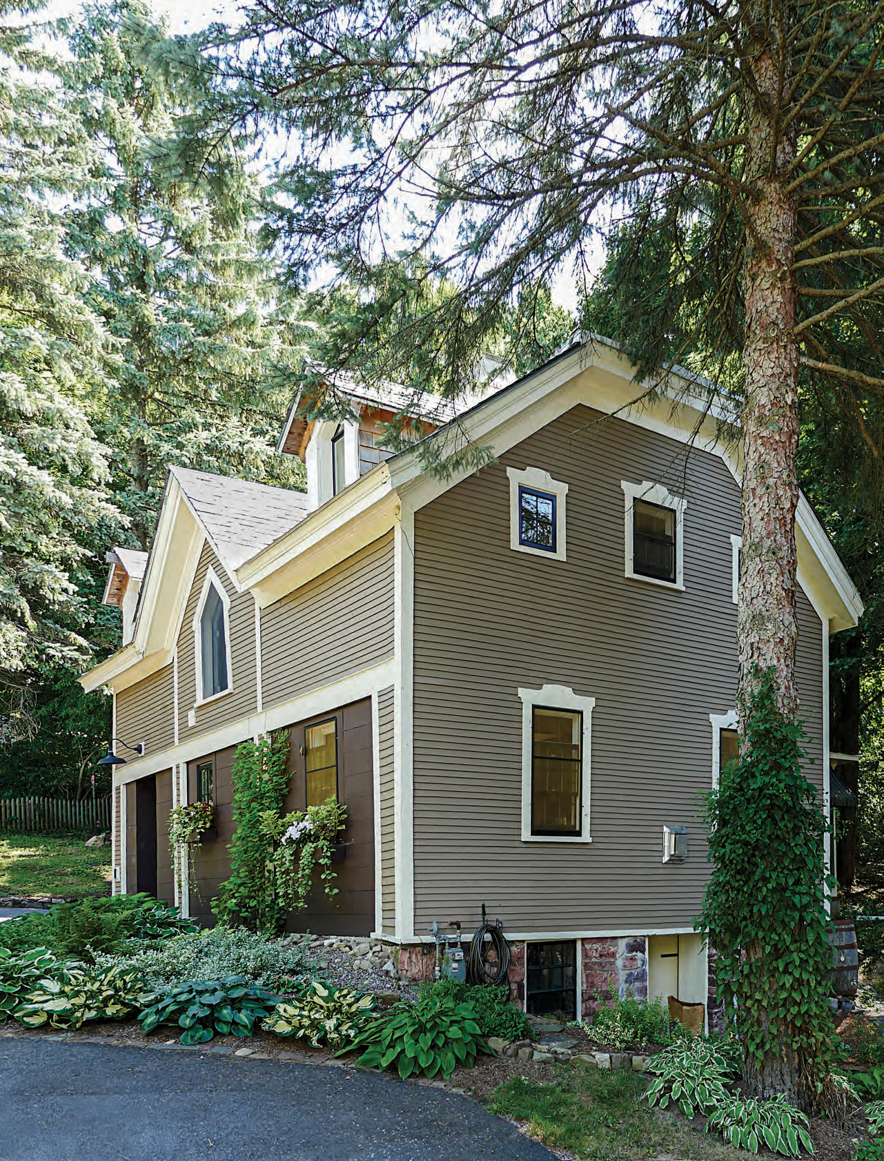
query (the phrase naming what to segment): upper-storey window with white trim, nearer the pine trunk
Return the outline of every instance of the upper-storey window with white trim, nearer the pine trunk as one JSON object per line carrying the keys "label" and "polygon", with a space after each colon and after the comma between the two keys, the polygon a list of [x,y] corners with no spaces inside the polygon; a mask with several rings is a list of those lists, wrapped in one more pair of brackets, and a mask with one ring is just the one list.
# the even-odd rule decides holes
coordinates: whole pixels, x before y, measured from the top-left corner
{"label": "upper-storey window with white trim, nearer the pine trunk", "polygon": [[684,587],[683,524],[687,500],[662,484],[622,481],[626,502],[626,577],[668,589]]}

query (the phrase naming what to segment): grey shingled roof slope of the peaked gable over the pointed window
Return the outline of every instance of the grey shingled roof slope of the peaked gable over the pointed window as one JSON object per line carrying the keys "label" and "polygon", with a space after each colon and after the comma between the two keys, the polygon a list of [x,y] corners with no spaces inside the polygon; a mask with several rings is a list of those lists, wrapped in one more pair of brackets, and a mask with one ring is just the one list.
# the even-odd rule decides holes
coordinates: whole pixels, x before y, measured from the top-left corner
{"label": "grey shingled roof slope of the peaked gable over the pointed window", "polygon": [[220,562],[233,574],[307,514],[305,492],[169,468]]}

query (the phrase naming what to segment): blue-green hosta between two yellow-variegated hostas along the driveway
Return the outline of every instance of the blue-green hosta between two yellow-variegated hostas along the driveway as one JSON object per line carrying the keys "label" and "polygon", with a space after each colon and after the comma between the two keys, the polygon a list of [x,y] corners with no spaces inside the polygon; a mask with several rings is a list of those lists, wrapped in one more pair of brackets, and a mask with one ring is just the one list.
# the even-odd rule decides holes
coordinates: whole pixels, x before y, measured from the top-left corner
{"label": "blue-green hosta between two yellow-variegated hostas along the driveway", "polygon": [[201,980],[147,996],[138,1016],[145,1036],[164,1024],[184,1031],[181,1044],[205,1044],[216,1032],[251,1036],[255,1021],[269,1016],[277,997],[237,975]]}

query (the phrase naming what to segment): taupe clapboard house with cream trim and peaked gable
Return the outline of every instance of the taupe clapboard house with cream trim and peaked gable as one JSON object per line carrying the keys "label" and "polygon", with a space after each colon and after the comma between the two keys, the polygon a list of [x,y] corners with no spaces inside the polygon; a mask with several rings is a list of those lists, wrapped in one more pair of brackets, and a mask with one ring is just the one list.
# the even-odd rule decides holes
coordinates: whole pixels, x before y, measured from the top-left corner
{"label": "taupe clapboard house with cream trim and peaked gable", "polygon": [[[305,461],[306,493],[171,469],[137,616],[81,678],[114,691],[114,735],[142,747],[114,773],[115,889],[211,922],[236,748],[285,728],[290,807],[310,767],[349,812],[336,906],[318,896],[292,929],[374,933],[420,976],[429,924],[470,933],[485,904],[530,1010],[590,1012],[609,982],[711,1004],[698,798],[736,737],[740,468],[688,373],[642,408],[632,375],[614,346],[574,344],[423,417],[396,455],[377,445],[398,405],[383,389],[354,388],[340,423],[292,408],[280,452]],[[428,474],[441,440],[494,460]],[[862,606],[804,498],[797,540],[828,812],[828,637]],[[219,835],[200,896],[179,899],[168,809],[198,795]]]}

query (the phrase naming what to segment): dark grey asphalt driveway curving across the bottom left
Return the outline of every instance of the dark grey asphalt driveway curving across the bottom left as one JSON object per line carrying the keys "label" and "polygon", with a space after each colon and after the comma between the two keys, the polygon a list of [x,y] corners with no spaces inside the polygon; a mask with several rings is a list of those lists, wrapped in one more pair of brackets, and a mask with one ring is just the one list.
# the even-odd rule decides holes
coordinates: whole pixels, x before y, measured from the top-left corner
{"label": "dark grey asphalt driveway curving across the bottom left", "polygon": [[550,1161],[469,1097],[375,1073],[0,1039],[0,1161]]}

